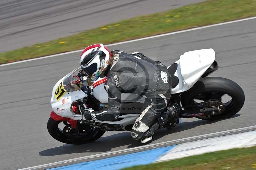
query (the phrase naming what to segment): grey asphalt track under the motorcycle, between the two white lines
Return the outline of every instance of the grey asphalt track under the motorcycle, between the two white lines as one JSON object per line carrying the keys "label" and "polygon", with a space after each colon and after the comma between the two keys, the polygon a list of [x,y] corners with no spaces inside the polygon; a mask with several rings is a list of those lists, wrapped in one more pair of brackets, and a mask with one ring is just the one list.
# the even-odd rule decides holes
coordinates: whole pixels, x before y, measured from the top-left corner
{"label": "grey asphalt track under the motorcycle, between the two white lines", "polygon": [[[255,27],[256,19],[251,19],[109,47],[159,56],[153,58],[166,65],[186,51],[213,48],[220,68],[211,76],[231,79],[244,89],[244,107],[231,119],[183,119],[171,131],[158,130],[151,144],[255,125]],[[0,67],[0,169],[25,168],[140,146],[129,132],[107,132],[99,140],[79,146],[60,143],[48,134],[52,87],[79,66],[79,54]]]}

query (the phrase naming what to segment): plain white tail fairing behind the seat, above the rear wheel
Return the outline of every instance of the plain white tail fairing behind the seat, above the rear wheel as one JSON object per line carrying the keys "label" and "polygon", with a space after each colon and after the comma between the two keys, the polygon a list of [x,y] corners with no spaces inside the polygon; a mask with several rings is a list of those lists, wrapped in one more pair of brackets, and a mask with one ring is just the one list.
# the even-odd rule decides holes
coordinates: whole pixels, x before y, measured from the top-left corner
{"label": "plain white tail fairing behind the seat, above the rear wheel", "polygon": [[[172,94],[190,89],[215,60],[213,49],[202,49],[185,52],[175,63],[178,68],[174,73],[179,78],[179,84],[172,89]],[[170,67],[170,66],[169,66]]]}

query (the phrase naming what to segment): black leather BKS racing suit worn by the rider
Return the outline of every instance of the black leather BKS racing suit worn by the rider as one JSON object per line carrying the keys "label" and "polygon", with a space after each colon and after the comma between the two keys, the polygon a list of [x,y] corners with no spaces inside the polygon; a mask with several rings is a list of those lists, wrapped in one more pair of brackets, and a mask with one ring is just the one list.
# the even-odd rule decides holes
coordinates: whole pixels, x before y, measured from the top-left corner
{"label": "black leather BKS racing suit worn by the rider", "polygon": [[[116,120],[121,110],[121,94],[133,93],[151,100],[136,119],[131,135],[135,140],[152,136],[159,127],[156,118],[166,108],[171,97],[171,77],[166,66],[143,54],[111,52],[113,65],[108,72],[108,111],[95,112],[98,120]],[[132,111],[131,111],[132,112]]]}

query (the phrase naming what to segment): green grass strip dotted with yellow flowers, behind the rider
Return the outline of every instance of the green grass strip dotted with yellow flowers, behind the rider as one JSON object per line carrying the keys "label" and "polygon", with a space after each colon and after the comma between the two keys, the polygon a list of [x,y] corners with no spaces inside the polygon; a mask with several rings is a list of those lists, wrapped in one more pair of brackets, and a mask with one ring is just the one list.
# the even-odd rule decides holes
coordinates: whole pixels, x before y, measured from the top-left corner
{"label": "green grass strip dotted with yellow flowers, behind the rider", "polygon": [[0,53],[0,64],[256,16],[256,0],[209,0]]}

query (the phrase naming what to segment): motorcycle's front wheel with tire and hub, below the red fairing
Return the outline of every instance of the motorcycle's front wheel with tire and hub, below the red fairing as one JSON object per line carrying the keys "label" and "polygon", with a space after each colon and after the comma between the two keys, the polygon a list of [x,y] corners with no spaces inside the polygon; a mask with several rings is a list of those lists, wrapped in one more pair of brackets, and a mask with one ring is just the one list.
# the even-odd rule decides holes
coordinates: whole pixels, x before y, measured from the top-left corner
{"label": "motorcycle's front wheel with tire and hub, below the red fairing", "polygon": [[47,129],[54,139],[62,143],[76,145],[93,142],[105,133],[104,130],[86,125],[81,125],[80,128],[74,129],[68,122],[56,121],[51,117],[47,122]]}

